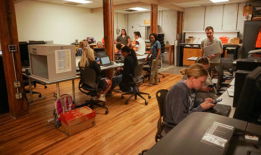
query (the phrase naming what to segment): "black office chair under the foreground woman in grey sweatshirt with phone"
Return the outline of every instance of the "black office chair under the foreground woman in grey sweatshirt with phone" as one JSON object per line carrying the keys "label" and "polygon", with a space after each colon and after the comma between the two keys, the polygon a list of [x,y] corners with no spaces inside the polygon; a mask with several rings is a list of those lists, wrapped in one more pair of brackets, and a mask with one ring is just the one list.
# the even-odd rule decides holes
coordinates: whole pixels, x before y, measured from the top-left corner
{"label": "black office chair under the foreground woman in grey sweatshirt with phone", "polygon": [[[173,125],[170,125],[167,122],[164,122],[164,121],[162,122],[162,119],[163,119],[163,105],[164,105],[164,100],[166,98],[167,92],[168,92],[168,90],[159,90],[156,93],[156,98],[157,98],[157,101],[158,101],[159,111],[160,111],[160,118],[158,120],[158,125],[157,125],[158,131],[157,131],[156,136],[155,136],[156,143],[158,142],[159,139],[163,138],[163,135],[166,134],[164,132],[164,127],[165,126],[168,126],[168,127],[171,127],[171,128],[174,127]],[[148,150],[143,150],[139,155],[143,155],[147,151]]]}

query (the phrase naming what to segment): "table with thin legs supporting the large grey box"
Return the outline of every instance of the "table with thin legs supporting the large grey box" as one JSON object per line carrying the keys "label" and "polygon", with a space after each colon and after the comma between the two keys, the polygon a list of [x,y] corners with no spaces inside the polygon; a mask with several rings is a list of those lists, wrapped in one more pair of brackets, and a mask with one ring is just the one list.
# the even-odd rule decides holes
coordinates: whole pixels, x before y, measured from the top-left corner
{"label": "table with thin legs supporting the large grey box", "polygon": [[[51,84],[56,84],[56,90],[57,90],[57,96],[60,96],[60,87],[59,87],[59,83],[60,82],[64,82],[64,81],[69,81],[71,80],[72,81],[72,100],[73,102],[75,101],[75,89],[74,89],[74,79],[79,79],[80,77],[79,76],[74,76],[74,77],[69,77],[69,78],[65,78],[65,79],[60,79],[60,80],[55,80],[55,81],[46,81],[46,80],[43,80],[39,77],[36,77],[36,76],[33,76],[33,75],[28,75],[27,76],[28,79],[29,79],[29,88],[30,88],[30,100],[29,102],[33,102],[35,101],[33,99],[33,93],[32,93],[32,83],[31,83],[31,80],[35,80],[37,82],[40,82],[40,83],[43,83],[45,85],[51,85]],[[41,97],[40,97],[41,98]],[[44,98],[43,98],[44,99]],[[37,99],[39,100],[39,99]]]}

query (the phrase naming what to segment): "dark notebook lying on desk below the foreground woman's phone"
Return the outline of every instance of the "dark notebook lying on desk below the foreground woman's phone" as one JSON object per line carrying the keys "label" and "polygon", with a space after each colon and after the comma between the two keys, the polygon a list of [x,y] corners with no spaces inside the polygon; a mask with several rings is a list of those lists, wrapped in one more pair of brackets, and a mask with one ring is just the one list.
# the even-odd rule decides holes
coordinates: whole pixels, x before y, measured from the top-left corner
{"label": "dark notebook lying on desk below the foreground woman's phone", "polygon": [[208,110],[205,110],[204,112],[218,114],[218,115],[222,115],[222,116],[228,116],[230,113],[230,110],[231,110],[230,105],[217,103],[216,106],[214,106],[213,108],[209,108]]}

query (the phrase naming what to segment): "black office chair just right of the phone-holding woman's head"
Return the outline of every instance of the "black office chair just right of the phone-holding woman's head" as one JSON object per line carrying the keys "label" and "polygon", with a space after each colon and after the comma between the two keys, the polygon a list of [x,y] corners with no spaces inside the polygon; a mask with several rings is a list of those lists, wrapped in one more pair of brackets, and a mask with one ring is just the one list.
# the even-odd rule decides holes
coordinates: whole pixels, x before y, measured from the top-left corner
{"label": "black office chair just right of the phone-holding woman's head", "polygon": [[229,83],[226,83],[226,80],[231,80],[234,77],[232,76],[225,76],[224,70],[220,66],[215,66],[217,71],[218,82],[216,84],[218,94],[222,94],[226,91],[226,87],[228,88]]}

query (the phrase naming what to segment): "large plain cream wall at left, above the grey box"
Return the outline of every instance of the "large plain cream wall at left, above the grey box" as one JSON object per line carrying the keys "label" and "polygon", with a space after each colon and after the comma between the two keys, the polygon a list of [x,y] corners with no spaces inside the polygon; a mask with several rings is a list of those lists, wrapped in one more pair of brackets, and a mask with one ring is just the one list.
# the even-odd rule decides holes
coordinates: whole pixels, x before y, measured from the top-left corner
{"label": "large plain cream wall at left, above the grey box", "polygon": [[[53,40],[56,44],[70,44],[88,36],[97,41],[103,37],[102,12],[33,0],[16,3],[15,11],[19,41]],[[114,14],[114,28],[116,19]],[[119,26],[125,25],[124,20],[124,14],[118,14]]]}

